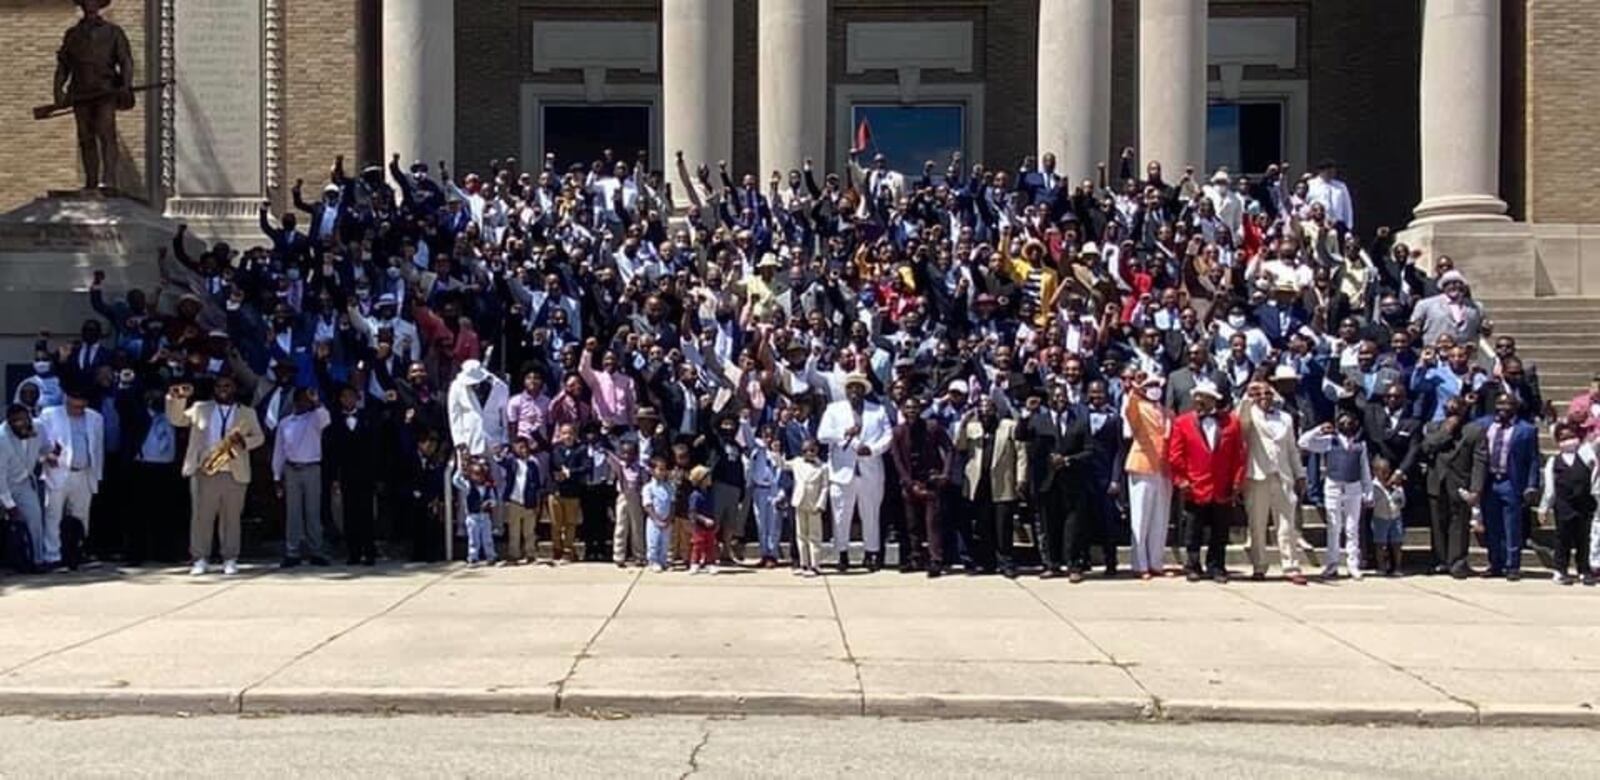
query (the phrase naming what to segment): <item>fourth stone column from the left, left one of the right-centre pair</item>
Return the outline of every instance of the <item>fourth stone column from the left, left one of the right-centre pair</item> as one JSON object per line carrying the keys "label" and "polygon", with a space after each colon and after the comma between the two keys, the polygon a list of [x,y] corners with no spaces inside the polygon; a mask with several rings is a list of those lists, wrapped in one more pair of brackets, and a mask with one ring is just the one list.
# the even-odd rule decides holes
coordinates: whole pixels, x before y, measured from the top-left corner
{"label": "fourth stone column from the left, left one of the right-centre pair", "polygon": [[1110,0],[1038,3],[1038,157],[1072,181],[1110,155]]}

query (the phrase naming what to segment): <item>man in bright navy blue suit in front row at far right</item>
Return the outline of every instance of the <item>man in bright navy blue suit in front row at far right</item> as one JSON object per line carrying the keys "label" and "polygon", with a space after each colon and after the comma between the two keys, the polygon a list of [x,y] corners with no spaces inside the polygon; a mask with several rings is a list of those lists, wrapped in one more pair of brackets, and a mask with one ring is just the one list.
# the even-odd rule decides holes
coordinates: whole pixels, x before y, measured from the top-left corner
{"label": "man in bright navy blue suit in front row at far right", "polygon": [[1539,430],[1517,419],[1517,396],[1494,400],[1494,414],[1478,420],[1488,435],[1488,480],[1482,497],[1486,577],[1522,577],[1523,507],[1539,500]]}

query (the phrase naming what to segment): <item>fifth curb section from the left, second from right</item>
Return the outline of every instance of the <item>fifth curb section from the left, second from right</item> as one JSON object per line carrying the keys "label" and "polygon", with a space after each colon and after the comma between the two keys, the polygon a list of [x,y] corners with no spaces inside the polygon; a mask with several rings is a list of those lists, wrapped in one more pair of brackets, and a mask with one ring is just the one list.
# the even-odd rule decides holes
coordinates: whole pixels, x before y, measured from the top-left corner
{"label": "fifth curb section from the left, second from right", "polygon": [[1477,726],[1477,710],[1453,703],[1338,705],[1320,702],[1163,700],[1162,719],[1174,722],[1280,722],[1339,726]]}

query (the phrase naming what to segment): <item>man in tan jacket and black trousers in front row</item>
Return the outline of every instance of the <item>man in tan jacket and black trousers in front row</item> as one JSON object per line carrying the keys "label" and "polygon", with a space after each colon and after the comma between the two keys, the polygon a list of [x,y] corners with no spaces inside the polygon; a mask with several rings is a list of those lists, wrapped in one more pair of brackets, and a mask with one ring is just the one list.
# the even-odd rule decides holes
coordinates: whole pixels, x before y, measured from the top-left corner
{"label": "man in tan jacket and black trousers in front row", "polygon": [[1027,486],[1027,448],[1016,440],[1016,420],[1000,417],[994,396],[982,395],[955,427],[955,449],[966,454],[963,494],[973,503],[974,571],[1016,577],[1011,561],[1013,510]]}

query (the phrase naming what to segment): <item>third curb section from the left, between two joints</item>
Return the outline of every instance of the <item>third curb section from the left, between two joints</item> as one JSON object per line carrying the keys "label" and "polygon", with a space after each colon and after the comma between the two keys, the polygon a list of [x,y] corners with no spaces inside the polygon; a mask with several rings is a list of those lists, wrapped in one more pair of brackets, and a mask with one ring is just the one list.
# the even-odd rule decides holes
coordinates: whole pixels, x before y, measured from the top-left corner
{"label": "third curb section from the left, between two joints", "polygon": [[861,714],[856,694],[774,694],[720,690],[563,690],[557,702],[563,713],[627,714]]}

